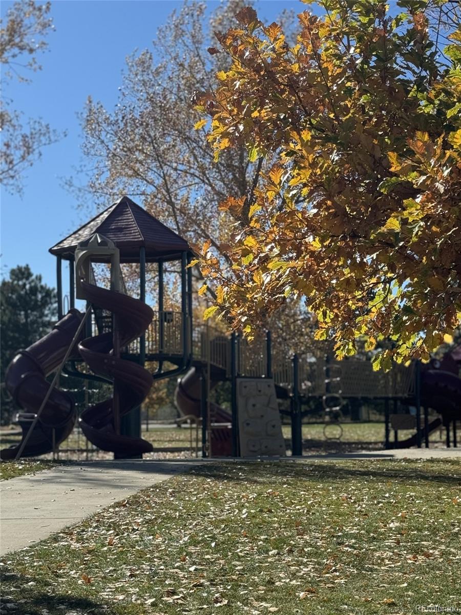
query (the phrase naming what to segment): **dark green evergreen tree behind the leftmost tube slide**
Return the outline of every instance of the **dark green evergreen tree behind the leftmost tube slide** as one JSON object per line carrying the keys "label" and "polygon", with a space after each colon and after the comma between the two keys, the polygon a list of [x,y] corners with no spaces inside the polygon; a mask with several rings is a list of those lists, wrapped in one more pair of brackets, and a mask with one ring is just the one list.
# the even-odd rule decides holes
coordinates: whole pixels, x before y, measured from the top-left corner
{"label": "dark green evergreen tree behind the leftmost tube slide", "polygon": [[[48,333],[57,317],[57,298],[54,288],[42,283],[42,276],[34,276],[28,265],[11,269],[9,279],[0,285],[0,379],[16,352],[25,349]],[[2,423],[8,422],[12,403],[2,386]]]}

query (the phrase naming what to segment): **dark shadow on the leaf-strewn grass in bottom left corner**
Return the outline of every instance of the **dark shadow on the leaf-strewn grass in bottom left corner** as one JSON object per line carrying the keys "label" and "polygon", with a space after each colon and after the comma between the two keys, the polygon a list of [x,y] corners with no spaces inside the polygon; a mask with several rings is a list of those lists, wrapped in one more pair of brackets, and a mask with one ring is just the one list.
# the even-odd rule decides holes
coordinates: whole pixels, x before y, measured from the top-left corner
{"label": "dark shadow on the leaf-strewn grass in bottom left corner", "polygon": [[[50,594],[47,588],[52,587],[39,579],[25,577],[4,566],[2,568],[1,605],[6,613],[15,615],[43,615],[43,613],[60,613],[73,615],[107,615],[107,605],[92,598]],[[35,585],[29,585],[35,582]],[[13,587],[22,587],[21,592],[12,591]],[[10,606],[9,606],[10,605]],[[3,610],[2,610],[3,613]]]}

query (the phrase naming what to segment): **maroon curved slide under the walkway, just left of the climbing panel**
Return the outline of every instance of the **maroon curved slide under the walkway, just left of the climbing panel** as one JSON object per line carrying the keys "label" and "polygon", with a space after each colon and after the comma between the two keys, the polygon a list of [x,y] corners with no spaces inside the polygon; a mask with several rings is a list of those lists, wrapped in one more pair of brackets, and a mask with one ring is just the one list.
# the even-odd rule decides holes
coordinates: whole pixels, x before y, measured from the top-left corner
{"label": "maroon curved slide under the walkway, just left of the climbing panel", "polygon": [[[213,389],[216,384],[218,384],[218,380],[211,380],[210,389]],[[175,391],[176,407],[183,416],[193,415],[200,418],[202,416],[201,400],[200,372],[192,367],[178,381]],[[213,427],[213,423],[231,423],[232,416],[230,412],[213,402],[210,403],[210,411],[213,417],[211,423],[211,454],[213,456],[230,456],[232,454],[232,430],[229,427]]]}

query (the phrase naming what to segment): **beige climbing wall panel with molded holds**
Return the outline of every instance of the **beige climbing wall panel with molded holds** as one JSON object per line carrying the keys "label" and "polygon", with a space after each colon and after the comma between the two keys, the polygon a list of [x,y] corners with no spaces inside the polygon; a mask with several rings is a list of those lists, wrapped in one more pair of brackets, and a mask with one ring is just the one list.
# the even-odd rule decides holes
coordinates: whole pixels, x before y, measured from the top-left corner
{"label": "beige climbing wall panel with molded holds", "polygon": [[237,408],[242,457],[285,455],[272,379],[237,378]]}

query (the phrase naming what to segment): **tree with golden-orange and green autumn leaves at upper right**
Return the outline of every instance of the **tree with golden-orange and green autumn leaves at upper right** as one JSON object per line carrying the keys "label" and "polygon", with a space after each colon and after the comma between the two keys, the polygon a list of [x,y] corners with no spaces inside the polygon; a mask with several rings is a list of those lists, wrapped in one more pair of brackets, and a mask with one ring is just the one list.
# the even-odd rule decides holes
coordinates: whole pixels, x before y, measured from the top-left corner
{"label": "tree with golden-orange and green autumn leaves at upper right", "polygon": [[251,335],[304,296],[339,357],[367,335],[393,342],[376,367],[427,358],[461,311],[459,5],[316,4],[294,45],[240,10],[217,34],[229,69],[195,97],[215,159],[243,147],[259,163],[253,191],[219,205],[235,220],[226,260],[203,246],[208,314]]}

